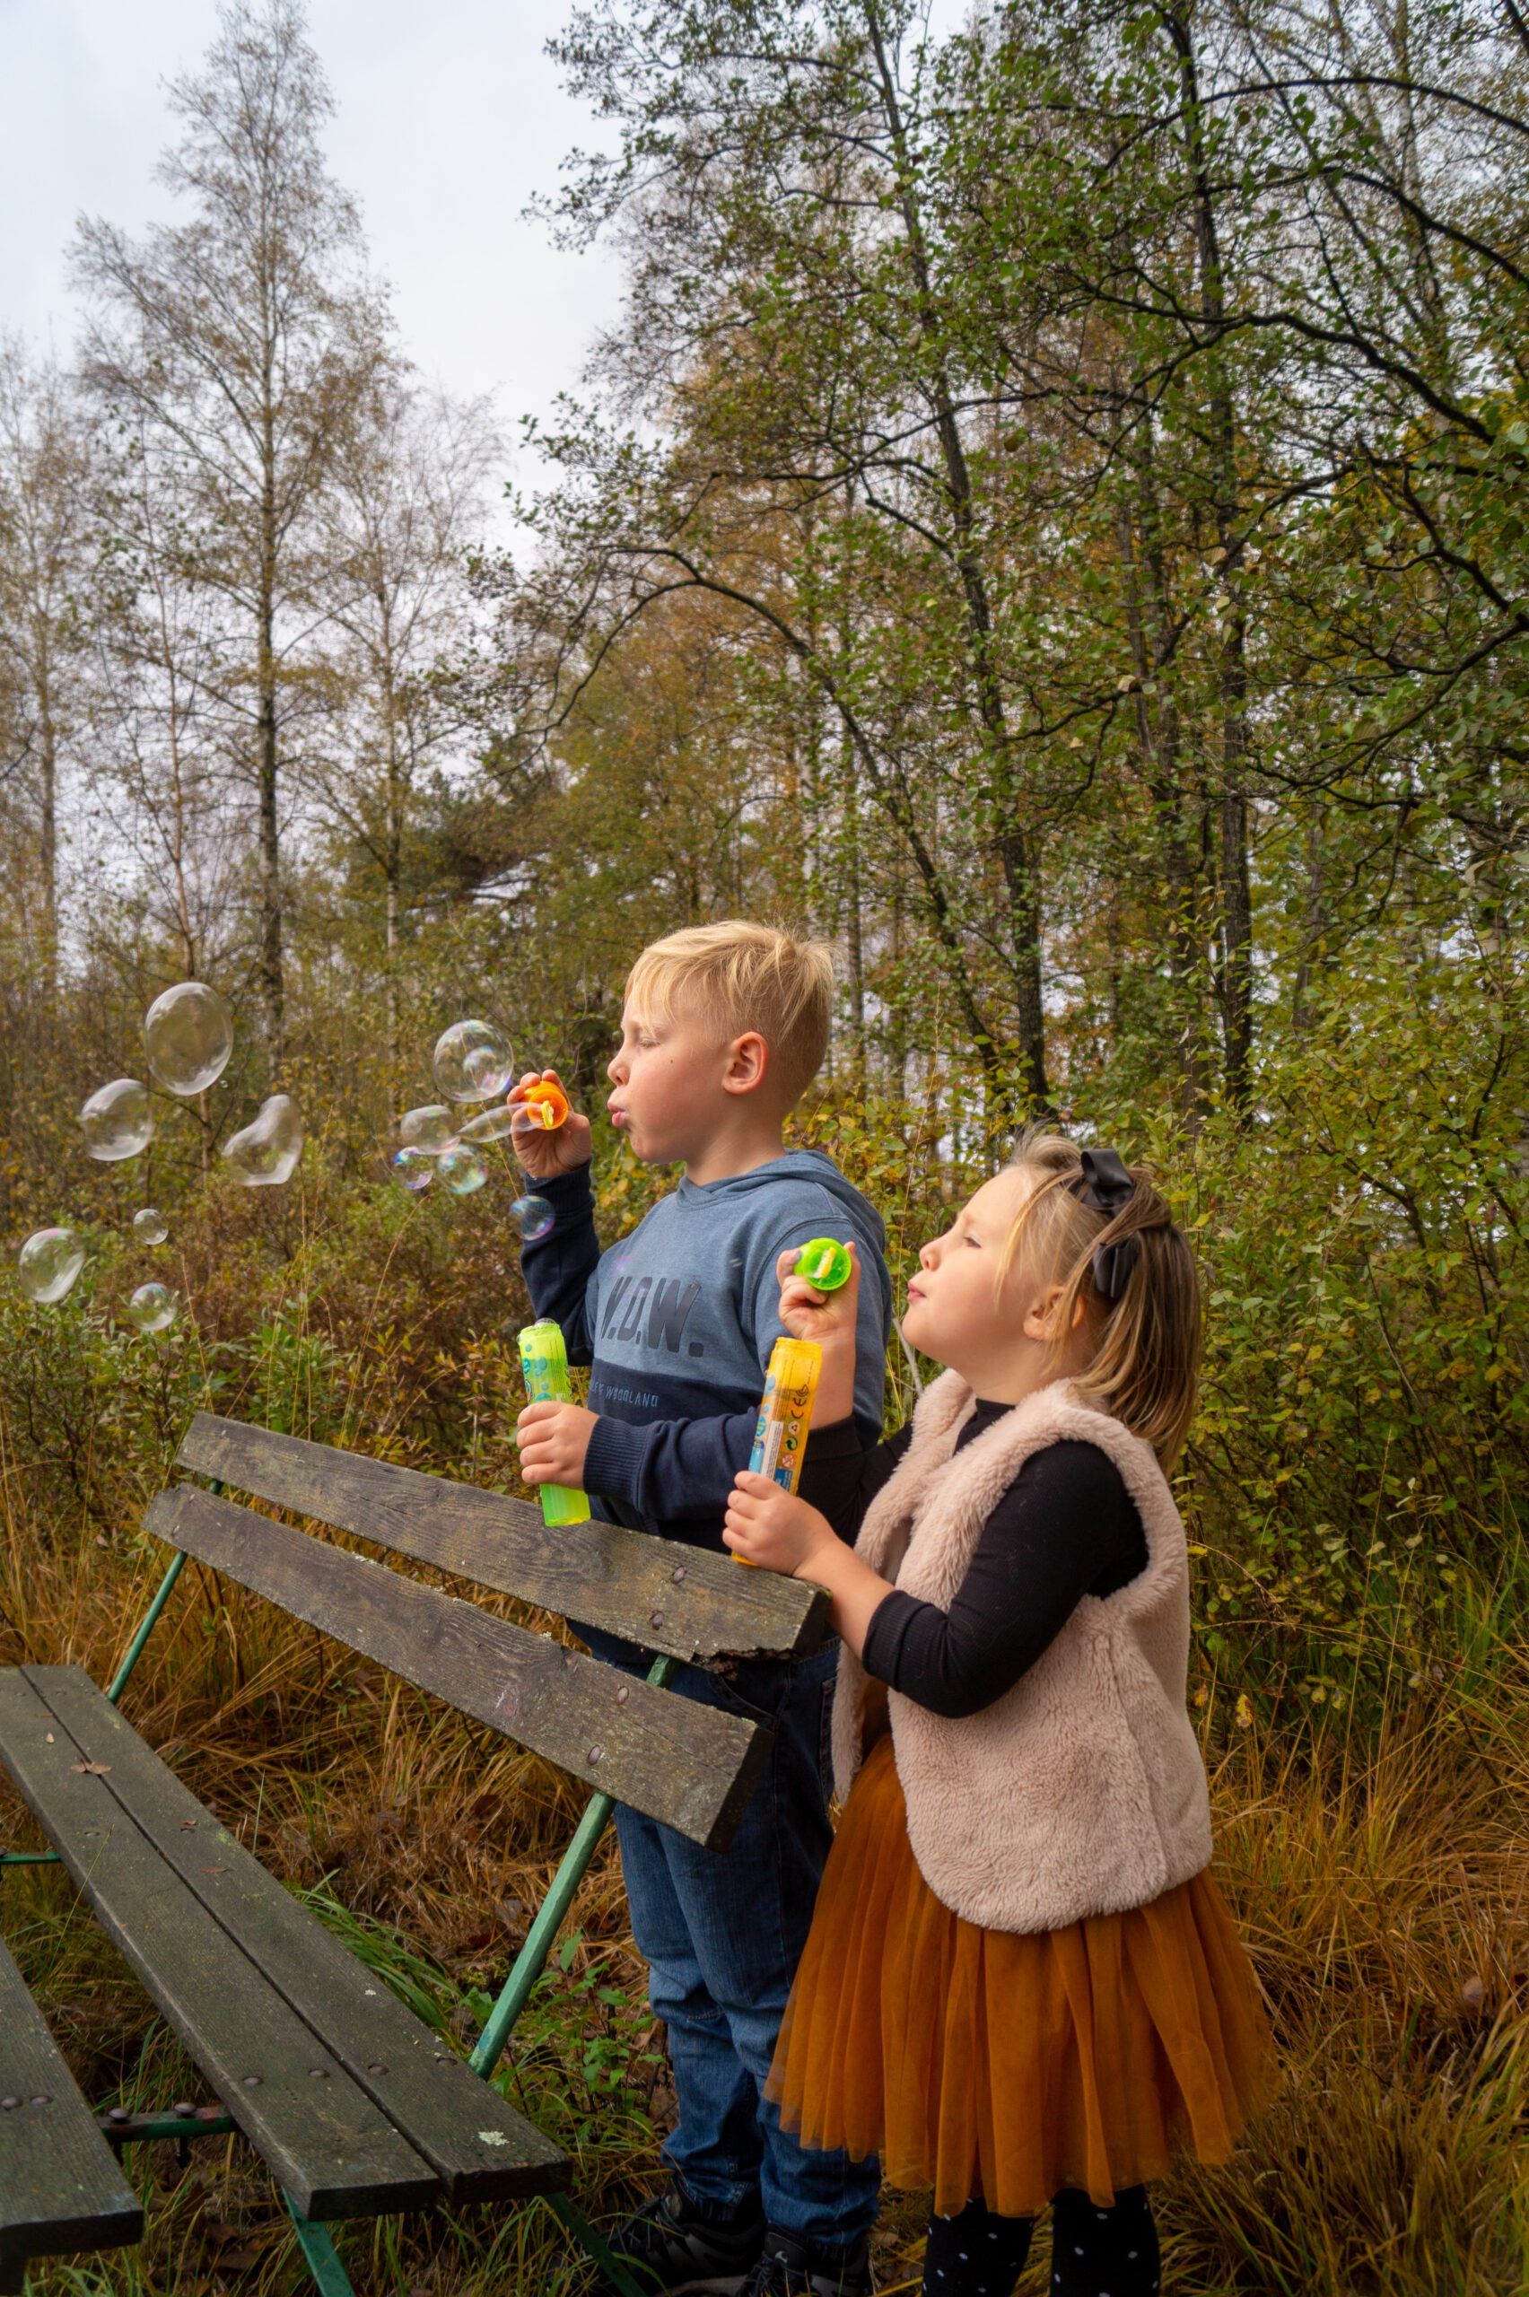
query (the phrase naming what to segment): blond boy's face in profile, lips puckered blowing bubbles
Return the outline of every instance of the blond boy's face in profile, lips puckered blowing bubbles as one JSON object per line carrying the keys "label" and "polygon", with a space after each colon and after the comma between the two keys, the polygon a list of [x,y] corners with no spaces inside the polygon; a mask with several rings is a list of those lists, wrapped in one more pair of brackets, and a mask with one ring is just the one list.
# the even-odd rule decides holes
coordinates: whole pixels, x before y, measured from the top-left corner
{"label": "blond boy's face in profile, lips puckered blowing bubbles", "polygon": [[739,1093],[762,1084],[764,1064],[755,1034],[723,1038],[684,1008],[659,1018],[627,1006],[606,1107],[643,1165],[691,1162],[737,1116]]}

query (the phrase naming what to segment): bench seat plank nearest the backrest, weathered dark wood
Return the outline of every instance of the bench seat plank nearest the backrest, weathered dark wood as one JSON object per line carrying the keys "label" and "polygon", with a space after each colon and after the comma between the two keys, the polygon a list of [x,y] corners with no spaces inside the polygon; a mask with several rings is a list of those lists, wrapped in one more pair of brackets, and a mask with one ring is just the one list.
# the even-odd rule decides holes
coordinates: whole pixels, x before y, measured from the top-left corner
{"label": "bench seat plank nearest the backrest, weathered dark wood", "polygon": [[452,2201],[567,2184],[567,2157],[282,1890],[78,1668],[28,1668],[87,1762],[250,1962],[324,2037]]}

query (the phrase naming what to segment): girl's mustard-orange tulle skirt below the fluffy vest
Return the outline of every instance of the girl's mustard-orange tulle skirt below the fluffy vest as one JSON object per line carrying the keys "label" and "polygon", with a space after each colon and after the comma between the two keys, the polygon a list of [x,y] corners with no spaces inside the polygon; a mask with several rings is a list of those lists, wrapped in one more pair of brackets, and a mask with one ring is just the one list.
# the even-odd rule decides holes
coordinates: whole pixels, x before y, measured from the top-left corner
{"label": "girl's mustard-orange tulle skirt below the fluffy vest", "polygon": [[882,2155],[946,2217],[980,2194],[1100,2207],[1175,2148],[1224,2161],[1276,2086],[1251,1964],[1210,1874],[1130,1913],[1015,1936],[925,1884],[884,1737],[854,1782],[767,2095],[806,2145]]}

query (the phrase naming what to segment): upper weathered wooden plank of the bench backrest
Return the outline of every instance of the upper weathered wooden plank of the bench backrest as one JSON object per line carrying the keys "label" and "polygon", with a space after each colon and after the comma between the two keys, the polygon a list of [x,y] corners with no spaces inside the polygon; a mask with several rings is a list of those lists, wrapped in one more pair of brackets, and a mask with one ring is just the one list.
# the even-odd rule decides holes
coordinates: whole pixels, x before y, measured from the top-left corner
{"label": "upper weathered wooden plank of the bench backrest", "polygon": [[505,1493],[214,1413],[186,1429],[179,1465],[675,1658],[799,1656],[829,1619],[826,1594],[806,1580],[739,1571],[730,1555],[615,1523],[549,1530],[537,1507]]}

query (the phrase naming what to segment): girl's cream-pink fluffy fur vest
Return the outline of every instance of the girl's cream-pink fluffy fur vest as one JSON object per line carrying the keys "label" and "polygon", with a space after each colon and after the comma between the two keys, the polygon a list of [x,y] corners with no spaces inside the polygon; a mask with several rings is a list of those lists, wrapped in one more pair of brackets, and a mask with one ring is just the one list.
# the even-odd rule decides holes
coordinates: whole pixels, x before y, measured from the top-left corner
{"label": "girl's cream-pink fluffy fur vest", "polygon": [[[1065,1380],[1026,1397],[960,1454],[971,1390],[939,1376],[914,1443],[854,1548],[884,1578],[950,1606],[978,1534],[1031,1452],[1068,1438],[1107,1452],[1136,1502],[1148,1567],[1086,1594],[1012,1691],[976,1716],[888,1693],[893,1753],[918,1867],[941,1904],[985,1929],[1061,1929],[1143,1907],[1210,1863],[1210,1794],[1189,1727],[1189,1557],[1157,1459]],[[861,1766],[866,1670],[840,1656],[833,1778]]]}

